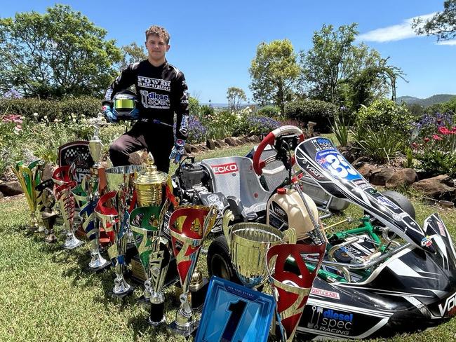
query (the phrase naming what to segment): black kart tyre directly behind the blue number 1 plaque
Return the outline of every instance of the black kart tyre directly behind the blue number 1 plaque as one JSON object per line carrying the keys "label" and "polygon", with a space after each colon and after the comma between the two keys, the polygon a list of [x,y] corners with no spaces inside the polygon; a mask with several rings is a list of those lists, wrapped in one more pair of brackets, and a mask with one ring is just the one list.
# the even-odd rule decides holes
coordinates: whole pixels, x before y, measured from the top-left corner
{"label": "black kart tyre directly behind the blue number 1 plaque", "polygon": [[241,284],[232,266],[227,238],[224,235],[218,236],[210,243],[207,260],[210,276],[215,275],[216,277]]}

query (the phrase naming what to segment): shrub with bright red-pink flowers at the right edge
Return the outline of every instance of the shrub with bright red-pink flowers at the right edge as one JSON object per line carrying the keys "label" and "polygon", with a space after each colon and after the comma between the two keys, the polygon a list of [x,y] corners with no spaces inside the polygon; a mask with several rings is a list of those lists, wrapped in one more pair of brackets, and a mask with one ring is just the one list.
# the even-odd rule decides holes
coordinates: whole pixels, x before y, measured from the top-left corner
{"label": "shrub with bright red-pink flowers at the right edge", "polygon": [[412,148],[429,175],[456,177],[456,126],[450,114],[425,114],[414,124]]}

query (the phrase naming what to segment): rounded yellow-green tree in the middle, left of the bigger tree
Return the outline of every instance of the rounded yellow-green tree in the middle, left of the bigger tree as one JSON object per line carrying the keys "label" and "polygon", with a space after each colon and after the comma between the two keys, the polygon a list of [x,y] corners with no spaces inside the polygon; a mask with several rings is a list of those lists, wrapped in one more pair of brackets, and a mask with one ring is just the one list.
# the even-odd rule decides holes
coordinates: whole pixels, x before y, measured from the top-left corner
{"label": "rounded yellow-green tree in the middle, left of the bigger tree", "polygon": [[249,69],[252,78],[250,90],[255,102],[262,105],[274,102],[281,109],[281,114],[285,112],[285,104],[299,81],[300,67],[296,57],[293,44],[288,39],[257,46]]}

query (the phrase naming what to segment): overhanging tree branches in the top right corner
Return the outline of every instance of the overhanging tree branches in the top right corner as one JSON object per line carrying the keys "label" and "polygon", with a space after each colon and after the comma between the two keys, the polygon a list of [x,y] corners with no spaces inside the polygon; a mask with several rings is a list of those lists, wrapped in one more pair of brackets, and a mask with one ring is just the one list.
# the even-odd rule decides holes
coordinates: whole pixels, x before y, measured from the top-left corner
{"label": "overhanging tree branches in the top right corner", "polygon": [[445,0],[443,12],[437,12],[431,19],[413,20],[413,29],[417,34],[437,36],[437,41],[456,38],[456,0]]}

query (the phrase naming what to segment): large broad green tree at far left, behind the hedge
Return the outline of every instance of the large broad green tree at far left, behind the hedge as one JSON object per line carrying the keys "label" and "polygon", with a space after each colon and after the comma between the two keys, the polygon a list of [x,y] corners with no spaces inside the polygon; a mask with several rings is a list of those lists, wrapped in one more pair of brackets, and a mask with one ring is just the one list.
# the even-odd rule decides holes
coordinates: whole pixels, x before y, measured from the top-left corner
{"label": "large broad green tree at far left, behind the hedge", "polygon": [[0,89],[26,97],[100,95],[121,60],[106,34],[66,5],[0,18]]}

